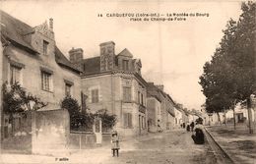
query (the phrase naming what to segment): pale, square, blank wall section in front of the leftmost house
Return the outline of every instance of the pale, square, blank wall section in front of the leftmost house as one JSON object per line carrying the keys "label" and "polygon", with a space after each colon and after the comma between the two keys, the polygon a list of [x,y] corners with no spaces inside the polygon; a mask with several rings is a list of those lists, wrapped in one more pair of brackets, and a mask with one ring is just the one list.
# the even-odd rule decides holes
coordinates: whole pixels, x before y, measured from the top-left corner
{"label": "pale, square, blank wall section in front of the leftmost house", "polygon": [[32,117],[32,131],[35,134],[32,135],[32,153],[52,154],[66,151],[70,132],[69,123],[67,110],[36,112],[35,117]]}

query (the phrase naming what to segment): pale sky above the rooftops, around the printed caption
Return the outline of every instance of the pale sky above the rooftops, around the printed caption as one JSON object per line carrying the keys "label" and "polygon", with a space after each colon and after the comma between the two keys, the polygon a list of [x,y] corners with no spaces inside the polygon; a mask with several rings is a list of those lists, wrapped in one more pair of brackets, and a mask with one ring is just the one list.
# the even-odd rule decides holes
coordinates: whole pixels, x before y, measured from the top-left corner
{"label": "pale sky above the rooftops, around the printed caption", "polygon": [[[115,42],[116,54],[127,48],[142,61],[148,82],[163,84],[174,101],[188,109],[205,102],[198,83],[203,66],[211,60],[222,39],[226,22],[238,20],[240,1],[1,1],[0,8],[35,27],[53,18],[57,46],[68,57],[82,48],[84,58],[99,55],[99,44]],[[186,21],[133,22],[106,14],[200,13],[209,17],[186,17]],[[103,17],[98,17],[102,14]]]}

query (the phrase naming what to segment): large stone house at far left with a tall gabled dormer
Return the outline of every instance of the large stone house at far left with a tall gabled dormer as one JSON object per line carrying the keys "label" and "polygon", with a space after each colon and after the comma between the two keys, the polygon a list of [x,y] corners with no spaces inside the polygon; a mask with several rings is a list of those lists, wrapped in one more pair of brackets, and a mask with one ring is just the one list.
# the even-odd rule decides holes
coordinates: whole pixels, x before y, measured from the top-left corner
{"label": "large stone house at far left with a tall gabled dormer", "polygon": [[[19,82],[28,93],[48,103],[40,109],[44,111],[60,109],[60,102],[66,95],[80,100],[81,71],[57,47],[53,20],[49,20],[49,25],[45,22],[31,27],[0,12],[1,43],[4,45],[1,81],[7,82],[8,87]],[[12,126],[17,130],[13,135],[21,134],[21,124],[23,120],[17,116],[14,124],[10,125],[9,116],[5,115],[1,122],[4,139],[9,137]]]}

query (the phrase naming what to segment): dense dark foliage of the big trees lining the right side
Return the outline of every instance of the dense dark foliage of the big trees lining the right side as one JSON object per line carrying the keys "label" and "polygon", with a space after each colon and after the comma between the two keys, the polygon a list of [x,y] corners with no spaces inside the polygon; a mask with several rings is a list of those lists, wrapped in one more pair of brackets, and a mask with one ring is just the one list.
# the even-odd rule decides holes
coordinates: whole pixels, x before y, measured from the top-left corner
{"label": "dense dark foliage of the big trees lining the right side", "polygon": [[205,64],[200,77],[209,113],[233,108],[256,88],[256,3],[244,2],[241,10],[238,22],[227,22],[220,47],[211,62]]}

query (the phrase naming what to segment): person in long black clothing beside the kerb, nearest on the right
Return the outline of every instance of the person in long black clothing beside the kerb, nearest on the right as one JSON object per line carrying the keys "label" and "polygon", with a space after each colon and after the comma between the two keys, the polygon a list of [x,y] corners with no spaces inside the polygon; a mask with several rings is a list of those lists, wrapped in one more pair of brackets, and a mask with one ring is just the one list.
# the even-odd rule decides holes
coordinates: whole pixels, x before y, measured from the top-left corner
{"label": "person in long black clothing beside the kerb, nearest on the right", "polygon": [[195,128],[195,135],[193,134],[191,137],[196,144],[204,144],[205,143],[205,135],[204,135],[204,126],[203,126],[203,119],[198,118],[196,120]]}

